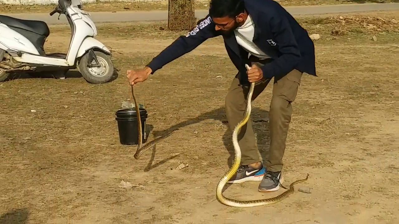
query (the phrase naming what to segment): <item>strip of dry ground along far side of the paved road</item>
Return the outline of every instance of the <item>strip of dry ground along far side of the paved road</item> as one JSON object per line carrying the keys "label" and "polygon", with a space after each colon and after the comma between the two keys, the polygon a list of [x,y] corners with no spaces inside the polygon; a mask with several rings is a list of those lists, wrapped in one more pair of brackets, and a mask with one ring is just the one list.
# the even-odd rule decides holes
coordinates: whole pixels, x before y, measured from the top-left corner
{"label": "strip of dry ground along far side of the paved road", "polygon": [[[335,5],[335,4],[361,4],[361,3],[389,3],[398,0],[277,0],[283,6],[310,6],[310,5]],[[195,1],[195,8],[208,9],[209,1]],[[0,4],[0,13],[39,13],[51,12],[55,5],[10,5]],[[120,12],[120,11],[148,11],[148,10],[168,10],[168,1],[150,2],[101,2],[85,3],[83,8],[88,12]]]}

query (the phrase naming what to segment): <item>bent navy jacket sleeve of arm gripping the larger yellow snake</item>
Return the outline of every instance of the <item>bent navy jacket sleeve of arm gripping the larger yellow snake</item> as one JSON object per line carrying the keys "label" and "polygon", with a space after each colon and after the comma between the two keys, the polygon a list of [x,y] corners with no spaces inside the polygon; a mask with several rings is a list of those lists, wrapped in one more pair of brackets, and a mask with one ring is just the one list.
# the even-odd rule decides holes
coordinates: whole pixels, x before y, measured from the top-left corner
{"label": "bent navy jacket sleeve of arm gripping the larger yellow snake", "polygon": [[269,20],[270,30],[281,55],[271,63],[261,67],[263,77],[283,77],[292,71],[300,61],[300,50],[288,20],[284,16],[279,16],[275,13],[267,20]]}

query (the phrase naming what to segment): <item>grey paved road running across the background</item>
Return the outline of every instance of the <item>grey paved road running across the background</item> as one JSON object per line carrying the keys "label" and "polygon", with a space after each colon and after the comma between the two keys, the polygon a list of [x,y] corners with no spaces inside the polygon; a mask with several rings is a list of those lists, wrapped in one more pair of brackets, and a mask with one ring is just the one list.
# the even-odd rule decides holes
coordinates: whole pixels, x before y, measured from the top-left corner
{"label": "grey paved road running across the background", "polygon": [[[389,11],[399,10],[399,3],[367,3],[367,4],[342,4],[342,5],[324,5],[324,6],[286,6],[284,7],[292,15],[315,15],[328,13],[352,13],[368,11]],[[91,12],[91,18],[95,23],[102,22],[131,22],[131,21],[157,21],[167,20],[168,11],[124,11],[124,12]],[[196,10],[196,17],[203,18],[207,10]],[[65,16],[58,14],[49,16],[48,13],[33,14],[3,14],[25,20],[41,20],[47,24],[67,24]]]}

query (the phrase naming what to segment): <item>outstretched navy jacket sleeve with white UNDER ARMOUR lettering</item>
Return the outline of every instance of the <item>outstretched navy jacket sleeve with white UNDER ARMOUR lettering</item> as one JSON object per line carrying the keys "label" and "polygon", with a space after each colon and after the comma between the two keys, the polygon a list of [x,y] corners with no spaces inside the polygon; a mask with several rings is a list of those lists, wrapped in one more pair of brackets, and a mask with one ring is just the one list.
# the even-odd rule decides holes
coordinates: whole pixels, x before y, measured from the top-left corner
{"label": "outstretched navy jacket sleeve with white UNDER ARMOUR lettering", "polygon": [[185,36],[178,37],[172,44],[161,51],[146,66],[150,67],[152,74],[164,65],[194,50],[198,45],[208,38],[217,36],[215,26],[211,17],[208,15],[198,21],[197,25]]}

